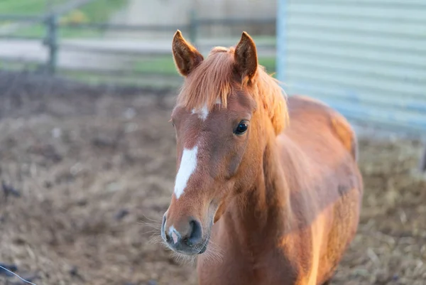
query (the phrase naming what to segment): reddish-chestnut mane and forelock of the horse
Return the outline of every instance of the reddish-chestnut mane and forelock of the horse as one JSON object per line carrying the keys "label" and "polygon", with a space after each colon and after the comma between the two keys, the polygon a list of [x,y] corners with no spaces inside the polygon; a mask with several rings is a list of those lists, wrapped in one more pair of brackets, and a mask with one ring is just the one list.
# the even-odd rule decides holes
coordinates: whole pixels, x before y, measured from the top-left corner
{"label": "reddish-chestnut mane and forelock of the horse", "polygon": [[279,134],[288,124],[288,109],[278,80],[258,65],[252,80],[236,78],[235,48],[213,48],[209,56],[185,79],[178,95],[178,104],[187,109],[210,110],[217,102],[226,108],[228,97],[239,90],[253,96],[258,106],[264,106],[271,118],[275,133]]}

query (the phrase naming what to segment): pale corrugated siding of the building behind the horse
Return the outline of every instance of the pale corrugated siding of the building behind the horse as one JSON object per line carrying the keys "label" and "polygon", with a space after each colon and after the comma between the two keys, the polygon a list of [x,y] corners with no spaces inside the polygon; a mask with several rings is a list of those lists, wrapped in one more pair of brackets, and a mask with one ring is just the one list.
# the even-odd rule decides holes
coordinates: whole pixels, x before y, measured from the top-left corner
{"label": "pale corrugated siding of the building behind the horse", "polygon": [[426,0],[279,0],[277,48],[288,95],[426,133]]}

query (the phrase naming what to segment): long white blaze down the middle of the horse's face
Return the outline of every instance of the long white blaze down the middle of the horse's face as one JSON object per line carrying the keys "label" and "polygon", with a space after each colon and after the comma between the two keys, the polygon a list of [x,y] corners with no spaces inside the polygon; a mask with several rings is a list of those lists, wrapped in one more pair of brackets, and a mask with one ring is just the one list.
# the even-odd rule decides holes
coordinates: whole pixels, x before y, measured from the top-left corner
{"label": "long white blaze down the middle of the horse's face", "polygon": [[180,161],[175,181],[176,200],[183,194],[190,176],[194,173],[195,168],[197,168],[197,152],[197,146],[194,146],[192,149],[183,149],[182,160]]}

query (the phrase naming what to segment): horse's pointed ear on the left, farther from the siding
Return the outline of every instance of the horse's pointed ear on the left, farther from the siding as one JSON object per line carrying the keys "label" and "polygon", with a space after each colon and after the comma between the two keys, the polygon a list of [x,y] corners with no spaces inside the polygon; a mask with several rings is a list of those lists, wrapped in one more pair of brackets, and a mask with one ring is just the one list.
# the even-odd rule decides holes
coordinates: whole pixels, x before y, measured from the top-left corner
{"label": "horse's pointed ear on the left, farther from the siding", "polygon": [[185,77],[204,60],[197,48],[185,41],[179,30],[173,36],[172,50],[176,68]]}

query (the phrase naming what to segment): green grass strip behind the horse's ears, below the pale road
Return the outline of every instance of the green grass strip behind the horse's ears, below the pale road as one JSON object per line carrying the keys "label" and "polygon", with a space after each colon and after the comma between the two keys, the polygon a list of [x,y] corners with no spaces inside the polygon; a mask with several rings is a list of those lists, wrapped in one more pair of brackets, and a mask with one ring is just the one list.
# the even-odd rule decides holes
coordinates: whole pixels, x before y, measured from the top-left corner
{"label": "green grass strip behind the horse's ears, below the pale road", "polygon": [[[259,64],[266,68],[266,72],[275,72],[275,58],[260,57]],[[133,69],[142,74],[178,75],[172,55],[139,59],[134,63]]]}

